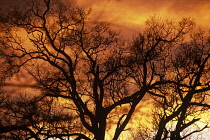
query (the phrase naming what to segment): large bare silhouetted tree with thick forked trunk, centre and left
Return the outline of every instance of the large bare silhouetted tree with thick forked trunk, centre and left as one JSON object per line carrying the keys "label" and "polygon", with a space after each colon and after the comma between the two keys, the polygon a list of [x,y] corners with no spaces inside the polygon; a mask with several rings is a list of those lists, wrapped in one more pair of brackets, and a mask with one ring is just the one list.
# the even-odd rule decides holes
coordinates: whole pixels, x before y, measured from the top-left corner
{"label": "large bare silhouetted tree with thick forked trunk, centre and left", "polygon": [[170,78],[170,55],[194,22],[152,17],[125,43],[108,23],[91,22],[89,12],[50,0],[12,9],[1,15],[1,55],[33,76],[40,99],[66,101],[82,124],[82,131],[72,130],[83,136],[77,139],[103,140],[115,126],[117,140],[147,93],[164,98],[163,86],[180,86]]}

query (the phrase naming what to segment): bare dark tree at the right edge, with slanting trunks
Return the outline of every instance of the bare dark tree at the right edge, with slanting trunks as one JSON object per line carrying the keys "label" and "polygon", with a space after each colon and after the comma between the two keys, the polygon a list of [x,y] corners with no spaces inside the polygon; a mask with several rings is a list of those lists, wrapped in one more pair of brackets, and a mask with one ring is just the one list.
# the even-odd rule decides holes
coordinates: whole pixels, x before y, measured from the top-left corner
{"label": "bare dark tree at the right edge, with slanting trunks", "polygon": [[[177,50],[171,58],[173,76],[170,79],[175,84],[164,87],[166,95],[159,101],[163,111],[158,124],[156,139],[185,139],[193,133],[200,132],[208,125],[182,134],[186,128],[196,124],[201,119],[200,113],[209,110],[209,34],[199,31],[191,35],[189,42],[177,45]],[[197,115],[196,115],[197,114]],[[167,124],[173,121],[172,130]],[[174,122],[175,121],[175,122]]]}

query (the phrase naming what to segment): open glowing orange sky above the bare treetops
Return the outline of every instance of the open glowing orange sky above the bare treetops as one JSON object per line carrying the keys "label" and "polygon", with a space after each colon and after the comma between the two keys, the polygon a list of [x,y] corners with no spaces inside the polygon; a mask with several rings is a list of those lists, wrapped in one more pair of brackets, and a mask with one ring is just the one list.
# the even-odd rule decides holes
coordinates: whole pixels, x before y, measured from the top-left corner
{"label": "open glowing orange sky above the bare treetops", "polygon": [[[0,0],[0,7],[20,4],[22,0]],[[127,33],[143,28],[151,16],[179,20],[193,18],[198,26],[208,28],[210,0],[62,0],[66,3],[91,8],[91,19],[108,21]],[[209,26],[210,27],[210,26]]]}

